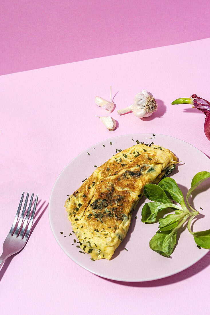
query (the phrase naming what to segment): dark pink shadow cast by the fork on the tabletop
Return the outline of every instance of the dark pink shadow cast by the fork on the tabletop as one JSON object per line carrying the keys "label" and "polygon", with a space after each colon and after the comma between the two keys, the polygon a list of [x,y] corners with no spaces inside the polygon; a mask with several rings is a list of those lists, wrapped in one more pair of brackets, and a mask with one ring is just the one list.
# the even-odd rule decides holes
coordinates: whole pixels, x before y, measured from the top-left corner
{"label": "dark pink shadow cast by the fork on the tabletop", "polygon": [[[30,233],[28,239],[31,237],[31,234],[32,234],[33,230],[35,229],[36,225],[38,224],[38,221],[41,219],[41,217],[43,216],[44,212],[45,212],[46,209],[48,208],[48,204],[49,204],[49,203],[47,203],[47,204],[45,205],[45,207],[44,207],[44,204],[46,203],[46,200],[45,200],[43,203],[41,203],[41,202],[42,202],[42,200],[39,200],[38,203],[37,203],[37,210],[36,210],[35,215],[34,215],[34,221],[33,221],[33,225],[32,225],[32,228],[31,228],[31,233]],[[34,203],[34,202],[33,202],[33,203]],[[32,209],[33,209],[33,203],[32,203]],[[44,207],[44,209],[43,209],[43,207]],[[42,211],[41,211],[41,210],[42,210]],[[27,212],[27,209],[26,209],[26,212]],[[40,212],[41,212],[41,213],[40,213]],[[40,213],[40,214],[39,214],[39,213]],[[38,214],[39,214],[39,215],[38,215]],[[24,247],[25,247],[25,246],[24,246]],[[23,249],[24,249],[24,247],[23,247]],[[21,249],[20,252],[21,252],[23,249]],[[5,261],[5,263],[3,264],[2,269],[0,270],[0,282],[1,282],[2,278],[3,278],[4,273],[6,272],[7,268],[9,267],[9,264],[10,264],[10,262],[12,261],[13,257],[15,257],[16,255],[18,255],[20,252],[18,252],[18,253],[15,254],[15,255],[10,256],[10,257]]]}

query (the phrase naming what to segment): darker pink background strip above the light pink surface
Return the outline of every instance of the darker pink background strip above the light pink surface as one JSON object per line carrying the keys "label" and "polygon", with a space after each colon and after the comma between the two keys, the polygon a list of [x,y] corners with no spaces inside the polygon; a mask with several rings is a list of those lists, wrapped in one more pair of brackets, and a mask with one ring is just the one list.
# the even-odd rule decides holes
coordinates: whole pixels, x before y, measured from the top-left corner
{"label": "darker pink background strip above the light pink surface", "polygon": [[1,0],[0,75],[210,37],[209,0]]}

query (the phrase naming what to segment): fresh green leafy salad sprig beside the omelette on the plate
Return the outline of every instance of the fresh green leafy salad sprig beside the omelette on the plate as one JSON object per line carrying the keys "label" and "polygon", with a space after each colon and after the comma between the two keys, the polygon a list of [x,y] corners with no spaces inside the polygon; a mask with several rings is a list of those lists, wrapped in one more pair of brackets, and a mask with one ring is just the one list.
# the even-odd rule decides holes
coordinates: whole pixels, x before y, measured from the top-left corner
{"label": "fresh green leafy salad sprig beside the omelette on the plate", "polygon": [[[160,147],[160,150],[162,150],[162,147]],[[174,179],[163,178],[158,185],[147,184],[144,186],[144,195],[154,202],[145,203],[143,206],[142,222],[155,222],[158,212],[163,209],[172,208],[175,210],[174,214],[166,215],[159,220],[159,231],[156,232],[155,236],[149,242],[149,246],[152,250],[160,255],[169,257],[176,245],[177,230],[183,226],[184,222],[188,219],[187,228],[190,234],[193,235],[197,247],[199,249],[201,249],[201,247],[210,249],[210,230],[199,232],[192,232],[191,230],[191,222],[199,212],[193,209],[188,201],[192,191],[207,178],[210,178],[210,173],[207,171],[199,172],[193,177],[191,188],[186,196],[187,206],[190,210],[187,208],[183,193]],[[181,207],[176,205],[175,201],[179,203]],[[200,209],[202,208],[200,207]]]}

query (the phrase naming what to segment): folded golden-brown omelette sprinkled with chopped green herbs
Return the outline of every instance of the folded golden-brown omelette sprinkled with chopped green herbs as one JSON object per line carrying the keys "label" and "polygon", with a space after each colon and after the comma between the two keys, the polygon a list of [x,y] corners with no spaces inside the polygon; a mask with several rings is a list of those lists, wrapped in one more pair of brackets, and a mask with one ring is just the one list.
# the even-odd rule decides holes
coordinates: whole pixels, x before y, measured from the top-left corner
{"label": "folded golden-brown omelette sprinkled with chopped green herbs", "polygon": [[160,181],[176,163],[173,152],[141,142],[99,166],[67,199],[68,219],[92,260],[112,257],[128,232],[144,185]]}

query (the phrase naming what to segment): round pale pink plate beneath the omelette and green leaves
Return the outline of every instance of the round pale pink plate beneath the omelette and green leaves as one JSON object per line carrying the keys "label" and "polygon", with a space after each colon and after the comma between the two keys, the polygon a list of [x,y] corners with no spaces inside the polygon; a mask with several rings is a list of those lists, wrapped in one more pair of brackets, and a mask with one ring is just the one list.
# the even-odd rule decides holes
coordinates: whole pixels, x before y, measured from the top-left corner
{"label": "round pale pink plate beneath the omelette and green leaves", "polygon": [[[123,135],[97,143],[75,157],[58,176],[49,202],[50,226],[61,249],[88,271],[118,281],[136,282],[164,278],[188,268],[208,252],[207,249],[196,247],[194,238],[186,226],[178,237],[178,244],[171,258],[166,258],[151,250],[149,241],[158,230],[158,223],[141,222],[142,207],[145,202],[148,202],[145,197],[139,201],[133,212],[127,236],[115,250],[110,261],[105,259],[92,261],[89,254],[84,255],[79,252],[80,248],[76,247],[78,244],[73,241],[76,239],[78,242],[78,240],[72,232],[73,229],[64,208],[67,195],[71,195],[77,190],[82,185],[82,181],[93,173],[96,169],[94,165],[102,165],[113,154],[116,154],[116,149],[129,148],[136,144],[136,140],[149,144],[154,142],[176,154],[178,160],[182,162],[176,166],[171,177],[176,180],[184,196],[190,188],[194,175],[200,171],[210,170],[210,159],[194,146],[182,140],[166,135],[155,135],[155,137],[151,134]],[[205,215],[205,218],[202,217],[195,222],[194,231],[210,228],[209,194],[209,180],[204,181],[194,191],[190,201],[191,205]],[[200,207],[202,210],[199,209]],[[137,219],[135,219],[136,216]]]}

